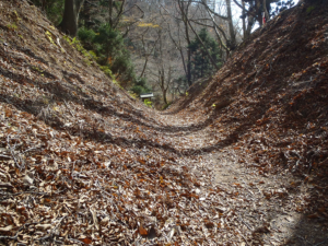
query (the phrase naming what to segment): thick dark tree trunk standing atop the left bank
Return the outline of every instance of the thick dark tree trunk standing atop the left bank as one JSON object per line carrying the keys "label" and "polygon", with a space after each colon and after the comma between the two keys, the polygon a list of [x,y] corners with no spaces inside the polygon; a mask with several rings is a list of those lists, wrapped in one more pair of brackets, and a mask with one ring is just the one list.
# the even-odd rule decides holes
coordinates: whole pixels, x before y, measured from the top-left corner
{"label": "thick dark tree trunk standing atop the left bank", "polygon": [[59,28],[70,36],[77,36],[79,12],[84,0],[65,0],[65,10]]}

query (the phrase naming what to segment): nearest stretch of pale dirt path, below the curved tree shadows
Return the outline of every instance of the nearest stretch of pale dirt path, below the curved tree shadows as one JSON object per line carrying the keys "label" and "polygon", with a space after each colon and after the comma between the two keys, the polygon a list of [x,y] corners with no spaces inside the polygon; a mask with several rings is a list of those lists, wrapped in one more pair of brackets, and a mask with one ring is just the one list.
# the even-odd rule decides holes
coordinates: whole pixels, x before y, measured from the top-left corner
{"label": "nearest stretch of pale dirt path, below the curved tree shadows", "polygon": [[[229,153],[213,154],[215,180],[224,187],[238,187],[238,213],[244,230],[258,233],[266,245],[328,245],[327,226],[295,211],[302,196],[309,197],[311,185],[281,175],[259,175],[258,169],[237,164]],[[292,185],[291,185],[292,184]],[[297,184],[297,185],[294,185]],[[248,208],[247,208],[248,207]]]}

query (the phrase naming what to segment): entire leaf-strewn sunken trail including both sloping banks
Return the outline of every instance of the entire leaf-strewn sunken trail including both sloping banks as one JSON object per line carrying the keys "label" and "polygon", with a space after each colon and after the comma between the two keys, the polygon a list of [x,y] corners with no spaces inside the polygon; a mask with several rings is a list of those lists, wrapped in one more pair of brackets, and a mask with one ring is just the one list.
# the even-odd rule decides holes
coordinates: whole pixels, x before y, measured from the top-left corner
{"label": "entire leaf-strewn sunken trail including both sloping banks", "polygon": [[0,0],[0,244],[328,245],[325,13],[284,11],[159,113]]}

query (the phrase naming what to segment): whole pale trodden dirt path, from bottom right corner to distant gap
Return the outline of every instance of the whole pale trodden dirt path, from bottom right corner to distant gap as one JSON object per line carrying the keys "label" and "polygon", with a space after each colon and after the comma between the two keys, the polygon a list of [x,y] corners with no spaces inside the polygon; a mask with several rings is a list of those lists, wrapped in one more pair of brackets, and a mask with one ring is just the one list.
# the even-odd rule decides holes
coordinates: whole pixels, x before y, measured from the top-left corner
{"label": "whole pale trodden dirt path, from bottom right corner to distant gap", "polygon": [[[173,129],[191,129],[172,136],[175,145],[183,143],[185,152],[202,150],[215,142],[211,129],[195,131],[195,127],[188,127],[196,125],[195,119],[168,117],[166,120],[167,124],[175,122]],[[188,141],[190,139],[192,141]],[[239,245],[328,245],[325,218],[318,214],[305,216],[301,209],[304,200],[316,192],[314,185],[290,176],[288,171],[285,174],[265,174],[256,163],[241,163],[233,147],[210,153],[198,152],[197,156],[201,162],[194,163],[192,173],[224,190],[216,201],[222,231],[224,223],[230,224],[227,221],[232,220],[233,214],[233,224],[245,238]],[[200,172],[204,166],[210,173]]]}

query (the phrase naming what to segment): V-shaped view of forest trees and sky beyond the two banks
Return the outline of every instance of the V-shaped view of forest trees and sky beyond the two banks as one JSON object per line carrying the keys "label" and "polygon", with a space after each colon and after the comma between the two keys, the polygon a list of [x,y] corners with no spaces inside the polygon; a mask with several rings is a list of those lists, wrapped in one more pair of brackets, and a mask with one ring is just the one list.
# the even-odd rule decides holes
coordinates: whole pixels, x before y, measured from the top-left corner
{"label": "V-shaped view of forest trees and sky beyond the two banks", "polygon": [[166,108],[292,0],[31,0],[133,97]]}

